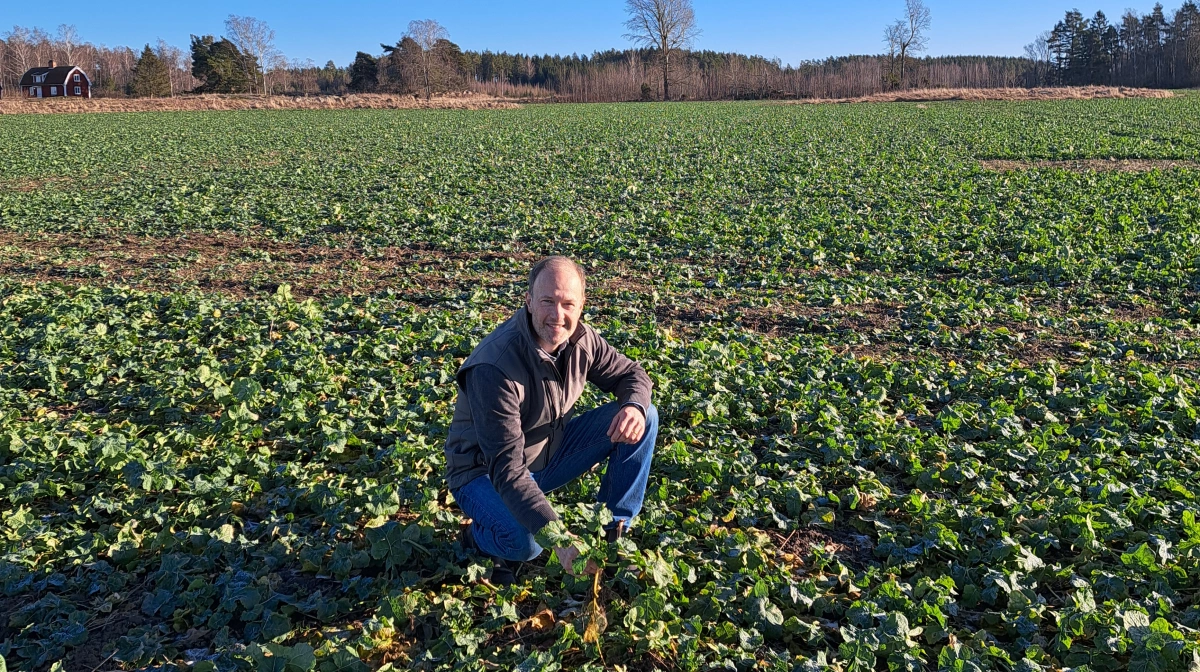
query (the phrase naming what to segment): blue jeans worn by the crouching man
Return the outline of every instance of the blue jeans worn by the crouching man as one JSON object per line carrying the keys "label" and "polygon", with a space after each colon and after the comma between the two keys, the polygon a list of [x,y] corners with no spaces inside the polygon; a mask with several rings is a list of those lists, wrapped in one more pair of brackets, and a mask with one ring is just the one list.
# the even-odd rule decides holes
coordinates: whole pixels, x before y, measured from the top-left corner
{"label": "blue jeans worn by the crouching man", "polygon": [[[628,528],[642,510],[646,498],[654,439],[659,433],[659,412],[653,406],[646,409],[642,440],[614,444],[608,440],[607,431],[618,408],[617,402],[610,402],[572,418],[550,463],[540,472],[530,472],[529,478],[542,492],[551,492],[586,474],[592,467],[607,462],[596,499],[608,506],[613,524],[624,521]],[[470,532],[484,553],[521,562],[532,560],[541,553],[533,533],[512,517],[486,475],[460,487],[454,498],[458,508],[474,520]]]}

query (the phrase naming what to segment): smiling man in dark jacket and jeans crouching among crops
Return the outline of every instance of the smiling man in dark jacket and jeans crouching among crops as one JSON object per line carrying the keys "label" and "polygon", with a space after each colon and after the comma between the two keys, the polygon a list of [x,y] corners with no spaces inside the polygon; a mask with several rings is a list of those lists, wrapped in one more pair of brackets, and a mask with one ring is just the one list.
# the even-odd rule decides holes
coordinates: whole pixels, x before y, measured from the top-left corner
{"label": "smiling man in dark jacket and jeans crouching among crops", "polygon": [[[590,326],[583,269],[566,257],[529,271],[526,305],[484,338],[458,370],[458,402],[446,438],[446,481],[473,518],[463,547],[493,560],[541,553],[534,534],[558,515],[546,493],[607,462],[599,499],[612,511],[616,540],[642,509],[658,434],[650,379]],[[572,418],[592,383],[617,396]],[[574,546],[554,548],[571,571]],[[589,565],[589,570],[592,570]],[[511,583],[497,562],[493,583]]]}

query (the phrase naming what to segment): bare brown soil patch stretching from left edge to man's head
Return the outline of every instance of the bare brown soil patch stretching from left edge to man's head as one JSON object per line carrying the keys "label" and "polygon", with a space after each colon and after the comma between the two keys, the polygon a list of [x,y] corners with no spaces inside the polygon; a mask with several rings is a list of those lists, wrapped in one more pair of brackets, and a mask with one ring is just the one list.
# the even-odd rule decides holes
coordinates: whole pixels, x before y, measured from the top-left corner
{"label": "bare brown soil patch stretching from left edge to man's head", "polygon": [[0,233],[0,275],[148,290],[182,287],[233,296],[274,292],[287,283],[298,298],[386,289],[419,298],[520,281],[521,274],[490,270],[492,262],[502,259],[518,259],[524,268],[533,256],[421,246],[367,251],[337,234],[328,236],[326,245],[302,245],[220,232],[175,238]]}

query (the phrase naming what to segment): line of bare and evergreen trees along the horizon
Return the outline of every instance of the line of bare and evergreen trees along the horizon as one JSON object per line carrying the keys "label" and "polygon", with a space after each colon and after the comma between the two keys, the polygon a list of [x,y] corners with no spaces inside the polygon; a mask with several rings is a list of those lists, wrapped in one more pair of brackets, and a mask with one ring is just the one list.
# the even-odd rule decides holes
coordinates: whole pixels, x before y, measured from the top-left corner
{"label": "line of bare and evergreen trees along the horizon", "polygon": [[[686,0],[629,0],[690,11]],[[840,98],[914,88],[1037,88],[1200,85],[1200,8],[1162,4],[1146,14],[1127,10],[1110,23],[1103,12],[1066,12],[1036,36],[1024,56],[922,56],[931,25],[922,0],[884,29],[880,54],[829,56],[784,65],[779,59],[691,48],[664,49],[654,38],[625,35],[635,47],[592,54],[539,55],[464,50],[437,20],[414,20],[395,43],[359,50],[353,61],[287,60],[274,31],[248,17],[226,22],[226,35],[193,35],[188,49],[157,41],[136,53],[96,47],[60,25],[55,36],[14,26],[0,35],[0,83],[17,90],[29,67],[54,59],[79,65],[97,96],[170,96],[188,92],[346,95],[386,92],[431,96],[474,91],[563,102],[634,100]],[[626,26],[631,25],[634,19]],[[695,37],[698,30],[691,24]],[[672,61],[667,64],[664,54]],[[79,62],[74,62],[79,61]]]}

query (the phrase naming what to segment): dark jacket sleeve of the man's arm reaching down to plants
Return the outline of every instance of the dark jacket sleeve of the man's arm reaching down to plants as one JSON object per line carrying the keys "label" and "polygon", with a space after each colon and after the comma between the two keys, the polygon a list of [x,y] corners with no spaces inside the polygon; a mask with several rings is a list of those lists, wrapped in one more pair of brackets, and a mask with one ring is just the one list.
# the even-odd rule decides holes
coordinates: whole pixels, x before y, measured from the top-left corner
{"label": "dark jacket sleeve of the man's arm reaching down to plants", "polygon": [[516,383],[487,364],[469,368],[464,383],[463,392],[470,401],[470,420],[487,462],[492,487],[512,517],[530,533],[536,533],[550,521],[558,520],[558,514],[529,475],[526,464],[521,395]]}

